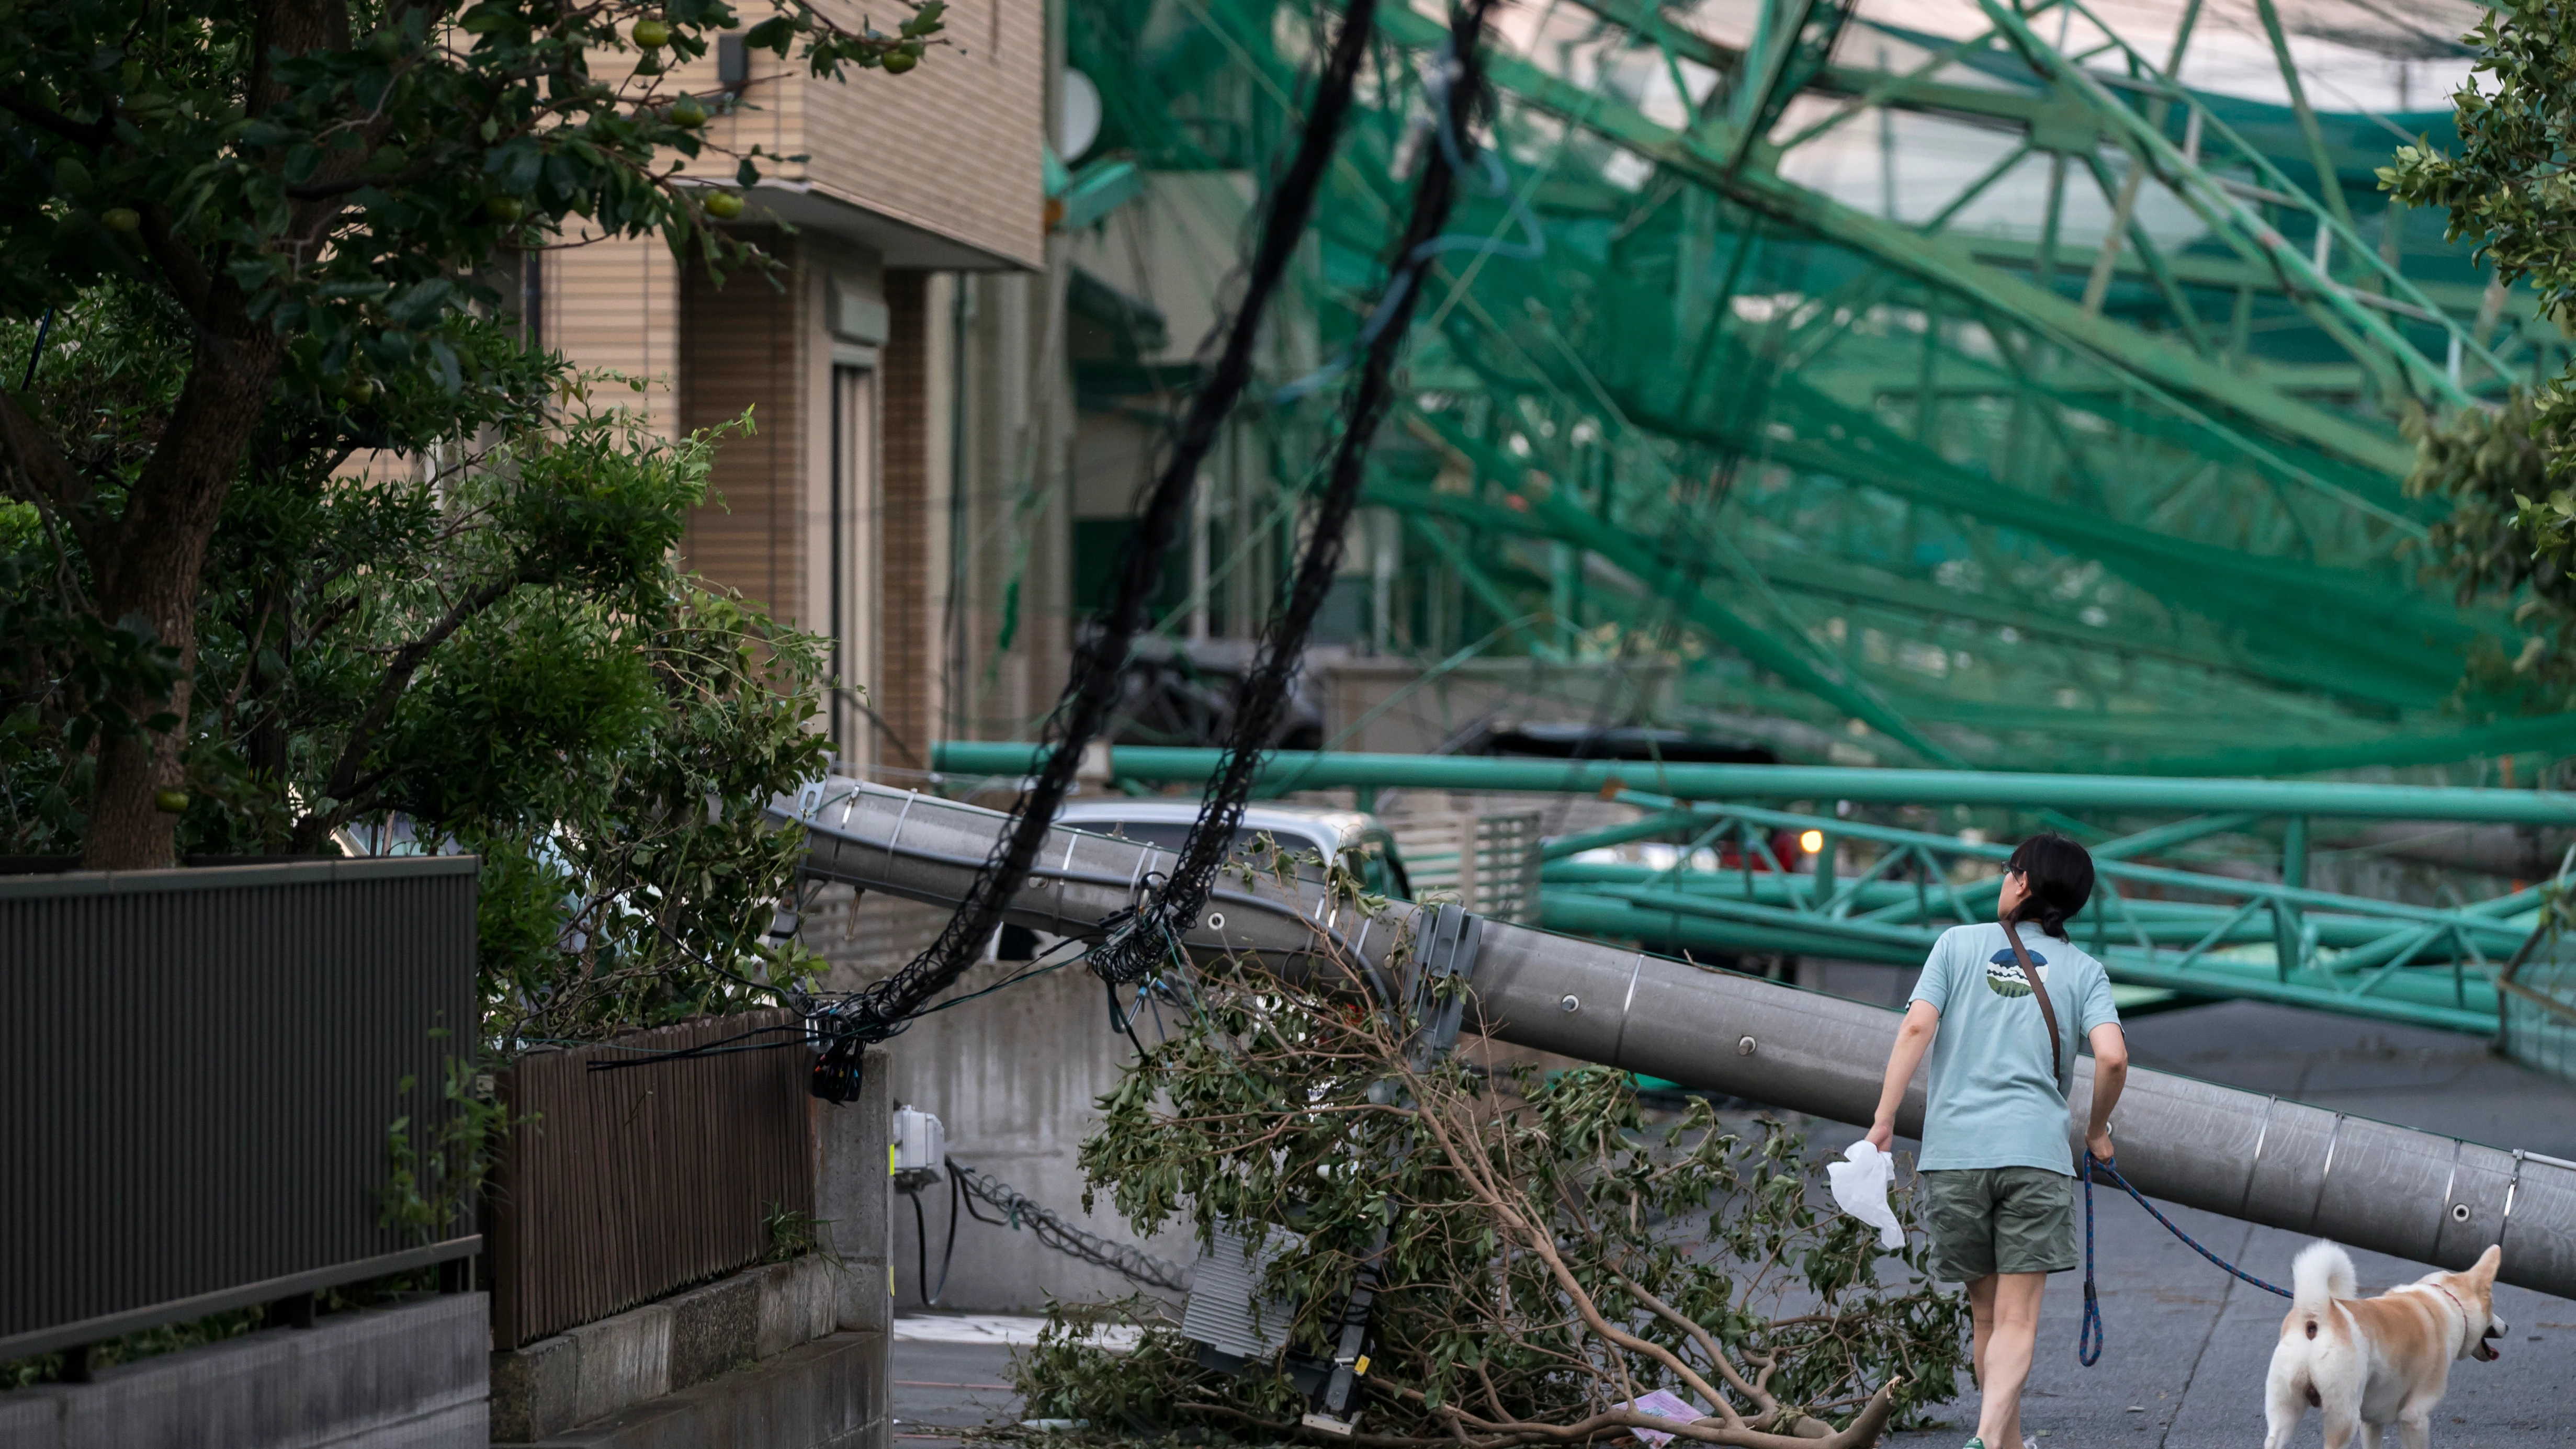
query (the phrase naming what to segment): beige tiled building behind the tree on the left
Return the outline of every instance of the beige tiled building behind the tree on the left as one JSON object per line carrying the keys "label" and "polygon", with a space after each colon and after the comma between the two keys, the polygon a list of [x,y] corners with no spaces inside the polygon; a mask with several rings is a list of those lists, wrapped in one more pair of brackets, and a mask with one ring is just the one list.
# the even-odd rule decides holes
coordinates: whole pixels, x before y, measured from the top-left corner
{"label": "beige tiled building behind the tree on the left", "polygon": [[762,160],[737,224],[778,268],[592,242],[546,252],[531,288],[544,342],[641,378],[667,435],[750,420],[716,448],[688,564],[835,641],[829,731],[868,772],[1010,734],[1066,651],[1072,389],[1041,160],[1059,44],[1046,0],[958,0],[948,41],[832,82],[726,36],[672,69],[732,98],[690,170],[801,157]]}

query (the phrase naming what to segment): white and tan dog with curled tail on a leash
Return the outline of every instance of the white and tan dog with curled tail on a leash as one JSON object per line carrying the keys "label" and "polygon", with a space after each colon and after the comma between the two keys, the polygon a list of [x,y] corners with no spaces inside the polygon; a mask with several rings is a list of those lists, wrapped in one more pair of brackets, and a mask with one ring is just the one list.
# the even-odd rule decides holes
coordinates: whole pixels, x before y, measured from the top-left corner
{"label": "white and tan dog with curled tail on a leash", "polygon": [[2424,1274],[2380,1297],[2354,1297],[2349,1253],[2334,1243],[2300,1248],[2290,1315],[2272,1349],[2264,1449],[2287,1449],[2308,1405],[2324,1410],[2326,1449],[2349,1449],[2354,1428],[2362,1449],[2380,1449],[2391,1423],[2403,1449],[2424,1449],[2452,1359],[2494,1359],[2504,1338],[2501,1261],[2504,1248],[2488,1248],[2465,1274]]}

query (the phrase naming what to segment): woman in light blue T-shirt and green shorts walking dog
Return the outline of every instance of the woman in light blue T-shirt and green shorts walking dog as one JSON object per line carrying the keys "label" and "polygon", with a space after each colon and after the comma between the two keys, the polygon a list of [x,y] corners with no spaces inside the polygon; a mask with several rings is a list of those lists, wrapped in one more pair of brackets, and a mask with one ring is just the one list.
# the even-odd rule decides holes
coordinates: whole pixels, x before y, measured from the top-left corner
{"label": "woman in light blue T-shirt and green shorts walking dog", "polygon": [[1888,1150],[1896,1107],[1924,1053],[1924,1223],[1932,1274],[1968,1284],[1976,1320],[1976,1439],[1968,1449],[2022,1449],[2048,1274],[2076,1266],[2074,1150],[2066,1086],[2076,1042],[2094,1050],[2084,1145],[2110,1161],[2110,1109],[2128,1081],[2128,1040],[2102,963],[2066,939],[2066,919],[2092,898],[2081,844],[2038,834],[2004,865],[1994,924],[1942,932],[1914,983],[1914,1004],[1888,1050],[1870,1143]]}

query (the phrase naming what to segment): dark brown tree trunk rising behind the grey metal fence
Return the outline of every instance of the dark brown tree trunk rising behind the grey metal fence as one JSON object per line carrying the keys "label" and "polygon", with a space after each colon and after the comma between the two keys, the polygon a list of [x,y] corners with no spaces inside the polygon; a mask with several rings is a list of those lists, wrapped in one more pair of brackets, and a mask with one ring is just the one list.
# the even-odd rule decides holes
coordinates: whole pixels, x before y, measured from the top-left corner
{"label": "dark brown tree trunk rising behind the grey metal fence", "polygon": [[178,646],[178,685],[167,700],[118,700],[134,718],[175,713],[178,726],[108,741],[98,752],[90,836],[80,857],[90,870],[173,865],[178,816],[162,811],[157,795],[180,785],[178,757],[196,677],[198,571],[281,353],[276,329],[242,317],[240,296],[229,283],[219,286],[229,327],[198,342],[170,430],[126,497],[124,517],[106,530],[108,546],[90,561],[100,618],[142,618],[162,643]]}

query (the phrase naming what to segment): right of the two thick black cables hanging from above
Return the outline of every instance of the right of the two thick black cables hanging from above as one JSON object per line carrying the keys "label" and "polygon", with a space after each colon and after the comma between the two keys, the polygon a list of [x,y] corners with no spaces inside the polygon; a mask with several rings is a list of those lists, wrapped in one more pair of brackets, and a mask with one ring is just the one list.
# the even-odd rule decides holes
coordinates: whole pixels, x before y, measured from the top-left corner
{"label": "right of the two thick black cables hanging from above", "polygon": [[[1450,206],[1458,198],[1466,152],[1473,144],[1468,139],[1471,126],[1486,98],[1476,46],[1484,39],[1484,18],[1492,3],[1468,0],[1450,18],[1450,41],[1443,57],[1435,59],[1430,80],[1440,147],[1430,152],[1430,162],[1422,167],[1422,183],[1414,188],[1414,208],[1386,275],[1386,296],[1368,319],[1368,350],[1342,396],[1342,438],[1332,450],[1324,497],[1314,512],[1314,535],[1306,543],[1306,556],[1298,558],[1296,587],[1288,595],[1288,605],[1262,631],[1260,654],[1236,695],[1226,757],[1208,782],[1206,806],[1198,813],[1198,824],[1190,826],[1190,839],[1180,847],[1180,862],[1172,867],[1170,883],[1139,911],[1139,919],[1128,921],[1108,945],[1092,952],[1092,970],[1110,983],[1141,981],[1159,970],[1170,957],[1175,934],[1198,924],[1198,911],[1208,903],[1216,870],[1234,849],[1234,831],[1242,826],[1244,803],[1252,798],[1252,775],[1260,770],[1260,759],[1288,710],[1296,672],[1306,656],[1306,638],[1314,631],[1314,615],[1324,607],[1324,595],[1332,592],[1334,574],[1342,566],[1342,535],[1350,528],[1352,510],[1360,504],[1368,448],[1394,401],[1396,355],[1404,350],[1414,304],[1422,299],[1422,275],[1430,270],[1432,257],[1445,250],[1440,232],[1448,226]],[[1133,561],[1136,556],[1131,553],[1128,564],[1133,566]],[[1059,754],[1056,764],[1061,762],[1064,757]]]}

